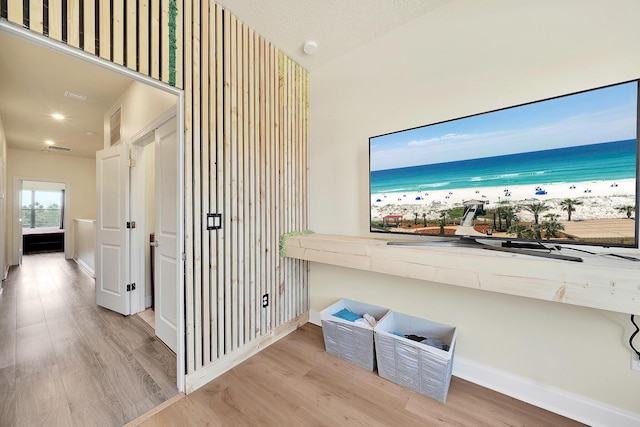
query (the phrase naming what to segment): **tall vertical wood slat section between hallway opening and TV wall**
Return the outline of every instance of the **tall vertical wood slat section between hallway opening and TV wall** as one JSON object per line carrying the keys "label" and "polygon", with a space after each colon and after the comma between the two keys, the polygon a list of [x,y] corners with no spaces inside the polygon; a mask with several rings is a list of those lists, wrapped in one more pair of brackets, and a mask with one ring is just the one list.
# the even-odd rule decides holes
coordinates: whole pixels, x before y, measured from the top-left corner
{"label": "tall vertical wood slat section between hallway opening and TV wall", "polygon": [[[185,10],[187,370],[308,311],[307,264],[279,256],[307,225],[307,72],[214,1]],[[222,214],[207,231],[204,214]],[[262,307],[262,296],[269,306]]]}

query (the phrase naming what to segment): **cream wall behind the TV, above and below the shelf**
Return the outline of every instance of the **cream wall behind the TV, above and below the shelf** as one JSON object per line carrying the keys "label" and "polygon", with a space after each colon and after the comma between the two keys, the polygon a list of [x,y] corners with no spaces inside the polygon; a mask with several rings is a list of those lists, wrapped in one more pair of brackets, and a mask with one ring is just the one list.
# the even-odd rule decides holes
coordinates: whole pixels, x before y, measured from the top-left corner
{"label": "cream wall behind the TV, above and below the shelf", "polygon": [[[310,228],[369,235],[371,136],[640,77],[638,16],[635,0],[456,0],[313,69]],[[456,325],[456,357],[640,414],[626,314],[316,263],[310,289],[312,310],[346,297]]]}

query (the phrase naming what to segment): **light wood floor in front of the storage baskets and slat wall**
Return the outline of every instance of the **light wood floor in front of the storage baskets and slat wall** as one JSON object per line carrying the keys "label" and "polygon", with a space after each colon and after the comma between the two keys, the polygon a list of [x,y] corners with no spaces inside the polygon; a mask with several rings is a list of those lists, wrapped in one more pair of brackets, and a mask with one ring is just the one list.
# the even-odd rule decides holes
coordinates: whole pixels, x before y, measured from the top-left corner
{"label": "light wood floor in front of the storage baskets and slat wall", "polygon": [[154,426],[579,426],[453,377],[446,404],[324,351],[307,323],[140,423]]}

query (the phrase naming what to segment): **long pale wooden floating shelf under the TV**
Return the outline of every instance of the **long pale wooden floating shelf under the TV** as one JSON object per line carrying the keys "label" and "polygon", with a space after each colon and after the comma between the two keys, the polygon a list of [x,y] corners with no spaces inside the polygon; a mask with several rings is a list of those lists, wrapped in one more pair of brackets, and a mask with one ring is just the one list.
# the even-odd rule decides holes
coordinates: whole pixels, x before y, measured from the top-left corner
{"label": "long pale wooden floating shelf under the TV", "polygon": [[[385,236],[386,237],[386,236]],[[583,262],[455,246],[392,246],[400,238],[306,234],[287,237],[287,257],[640,314],[640,262],[574,251]],[[640,257],[636,252],[631,254]]]}

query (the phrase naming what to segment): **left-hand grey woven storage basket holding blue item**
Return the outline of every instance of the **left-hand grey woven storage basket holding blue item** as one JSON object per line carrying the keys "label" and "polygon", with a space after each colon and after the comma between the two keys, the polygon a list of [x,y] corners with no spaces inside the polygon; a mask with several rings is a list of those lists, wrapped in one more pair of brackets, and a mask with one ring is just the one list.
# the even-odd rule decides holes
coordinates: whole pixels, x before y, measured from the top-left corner
{"label": "left-hand grey woven storage basket holding blue item", "polygon": [[373,328],[333,316],[343,309],[360,316],[367,313],[376,320],[380,320],[389,312],[389,309],[341,299],[320,312],[322,335],[327,353],[373,371],[376,368]]}

